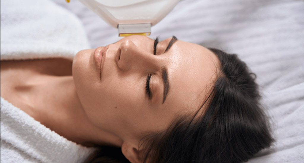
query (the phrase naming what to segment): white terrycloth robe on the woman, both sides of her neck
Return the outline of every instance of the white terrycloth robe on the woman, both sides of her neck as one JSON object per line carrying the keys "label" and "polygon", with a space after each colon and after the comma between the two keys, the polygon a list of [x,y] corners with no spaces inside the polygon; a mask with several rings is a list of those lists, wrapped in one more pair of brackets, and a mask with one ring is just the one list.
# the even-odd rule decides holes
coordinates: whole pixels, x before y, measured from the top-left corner
{"label": "white terrycloth robe on the woman, both sides of her neck", "polygon": [[[79,19],[54,2],[1,1],[1,60],[72,59],[89,47]],[[1,163],[80,163],[94,150],[68,141],[1,97]]]}

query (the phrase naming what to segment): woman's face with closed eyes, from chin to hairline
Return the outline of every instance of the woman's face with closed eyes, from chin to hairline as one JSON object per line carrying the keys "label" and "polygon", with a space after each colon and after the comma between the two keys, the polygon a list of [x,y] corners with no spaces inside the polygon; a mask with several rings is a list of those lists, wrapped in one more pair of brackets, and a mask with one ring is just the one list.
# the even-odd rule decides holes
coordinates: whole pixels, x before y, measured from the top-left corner
{"label": "woman's face with closed eyes, from chin to hairline", "polygon": [[168,38],[158,42],[154,55],[153,39],[129,36],[78,52],[73,78],[88,119],[136,142],[166,129],[177,115],[194,115],[214,83],[217,65],[216,56],[197,44]]}

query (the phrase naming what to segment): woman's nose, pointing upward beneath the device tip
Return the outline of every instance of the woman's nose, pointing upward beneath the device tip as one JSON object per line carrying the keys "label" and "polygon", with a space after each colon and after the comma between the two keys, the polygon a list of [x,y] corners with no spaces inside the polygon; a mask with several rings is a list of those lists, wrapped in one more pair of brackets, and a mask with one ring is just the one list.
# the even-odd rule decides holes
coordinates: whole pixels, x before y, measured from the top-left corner
{"label": "woman's nose, pointing upward beneath the device tip", "polygon": [[[151,44],[151,46],[153,46]],[[136,46],[130,39],[124,40],[117,52],[117,65],[122,71],[155,71],[161,68],[164,60],[149,52],[147,46]]]}

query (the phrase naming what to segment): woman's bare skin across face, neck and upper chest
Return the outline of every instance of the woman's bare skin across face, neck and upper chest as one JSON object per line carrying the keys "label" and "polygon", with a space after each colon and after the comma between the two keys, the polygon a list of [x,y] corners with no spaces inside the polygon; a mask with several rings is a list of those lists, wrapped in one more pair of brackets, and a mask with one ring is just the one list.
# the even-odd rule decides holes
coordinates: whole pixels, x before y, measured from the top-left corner
{"label": "woman's bare skin across face, neck and upper chest", "polygon": [[[102,73],[96,69],[95,49],[76,54],[72,76],[37,71],[35,66],[26,69],[26,65],[35,65],[26,61],[22,61],[23,67],[4,62],[1,85],[8,87],[1,89],[1,96],[68,140],[121,147],[129,161],[140,162],[138,155],[144,150],[138,148],[140,139],[165,130],[180,114],[193,116],[216,79],[219,61],[210,50],[177,40],[165,52],[170,40],[157,44],[156,55],[154,40],[146,36],[129,36],[109,44]],[[39,62],[40,69],[48,65],[43,62]],[[48,62],[54,65],[58,60]],[[9,66],[19,68],[6,69]],[[164,67],[170,89],[163,103]],[[145,88],[149,74],[151,98]],[[14,82],[6,82],[10,80]]]}

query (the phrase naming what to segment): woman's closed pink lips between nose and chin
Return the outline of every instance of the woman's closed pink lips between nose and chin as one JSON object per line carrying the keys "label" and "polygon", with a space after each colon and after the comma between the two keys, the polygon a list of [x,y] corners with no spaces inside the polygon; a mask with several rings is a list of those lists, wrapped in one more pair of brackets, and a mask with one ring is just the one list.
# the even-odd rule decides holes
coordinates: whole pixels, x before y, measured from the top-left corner
{"label": "woman's closed pink lips between nose and chin", "polygon": [[96,48],[94,51],[94,62],[95,62],[96,71],[99,74],[99,80],[101,80],[103,63],[105,62],[105,56],[106,56],[105,51],[107,49],[108,49],[107,47],[100,46]]}

